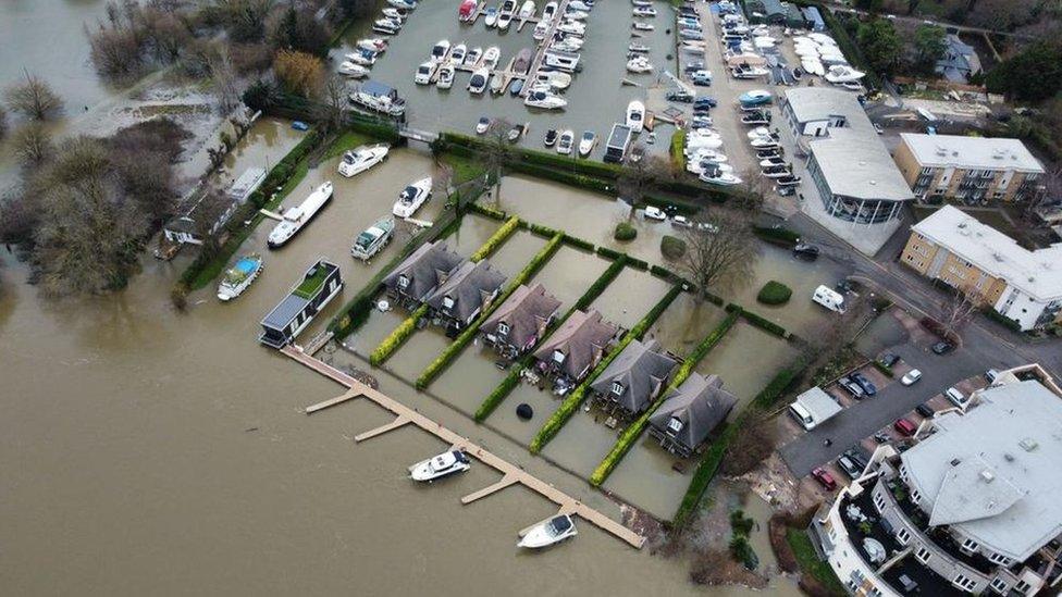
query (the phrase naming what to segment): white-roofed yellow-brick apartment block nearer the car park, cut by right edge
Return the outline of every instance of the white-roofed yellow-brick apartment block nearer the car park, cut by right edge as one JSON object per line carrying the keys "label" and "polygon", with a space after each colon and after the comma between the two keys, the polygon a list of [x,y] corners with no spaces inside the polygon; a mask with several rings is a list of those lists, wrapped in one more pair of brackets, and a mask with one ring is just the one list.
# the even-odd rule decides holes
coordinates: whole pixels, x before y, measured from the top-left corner
{"label": "white-roofed yellow-brick apartment block nearer the car park, cut by right edge", "polygon": [[1062,245],[1028,250],[944,206],[911,227],[900,261],[991,306],[1023,331],[1062,320]]}

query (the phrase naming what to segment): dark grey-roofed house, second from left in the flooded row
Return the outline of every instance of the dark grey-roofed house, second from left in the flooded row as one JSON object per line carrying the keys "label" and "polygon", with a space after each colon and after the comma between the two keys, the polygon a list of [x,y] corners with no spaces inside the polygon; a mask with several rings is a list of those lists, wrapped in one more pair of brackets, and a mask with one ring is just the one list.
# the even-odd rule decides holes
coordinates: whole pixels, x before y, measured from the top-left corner
{"label": "dark grey-roofed house, second from left in the flooded row", "polygon": [[446,276],[425,302],[432,311],[458,327],[465,327],[498,295],[505,274],[490,262],[465,261]]}

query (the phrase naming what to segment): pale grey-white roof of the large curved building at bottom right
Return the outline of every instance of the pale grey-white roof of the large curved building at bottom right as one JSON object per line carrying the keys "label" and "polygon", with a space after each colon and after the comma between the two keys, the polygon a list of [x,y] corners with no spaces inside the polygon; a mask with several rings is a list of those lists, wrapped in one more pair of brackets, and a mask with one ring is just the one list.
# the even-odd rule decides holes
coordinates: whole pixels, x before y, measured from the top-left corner
{"label": "pale grey-white roof of the large curved building at bottom right", "polygon": [[980,398],[937,416],[937,432],[901,459],[930,524],[1023,561],[1062,533],[1062,397],[1024,381]]}

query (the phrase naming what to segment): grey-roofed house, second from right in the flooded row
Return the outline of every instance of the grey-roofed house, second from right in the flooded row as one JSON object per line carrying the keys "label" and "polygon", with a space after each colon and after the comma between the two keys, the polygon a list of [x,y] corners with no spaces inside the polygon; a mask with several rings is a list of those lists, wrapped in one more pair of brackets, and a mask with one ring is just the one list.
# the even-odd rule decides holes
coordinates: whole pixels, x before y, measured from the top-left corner
{"label": "grey-roofed house, second from right in the flooded row", "polygon": [[606,408],[638,414],[664,391],[676,364],[656,340],[631,340],[590,388]]}

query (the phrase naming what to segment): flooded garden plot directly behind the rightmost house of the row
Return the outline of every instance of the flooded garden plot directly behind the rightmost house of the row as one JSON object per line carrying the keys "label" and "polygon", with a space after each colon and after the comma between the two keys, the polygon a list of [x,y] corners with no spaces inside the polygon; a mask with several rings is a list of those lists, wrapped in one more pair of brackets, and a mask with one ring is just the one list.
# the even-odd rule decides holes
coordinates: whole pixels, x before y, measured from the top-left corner
{"label": "flooded garden plot directly behind the rightmost house of the row", "polygon": [[738,397],[730,413],[733,416],[796,356],[798,350],[786,340],[739,320],[701,361],[696,372],[723,377],[723,387]]}

